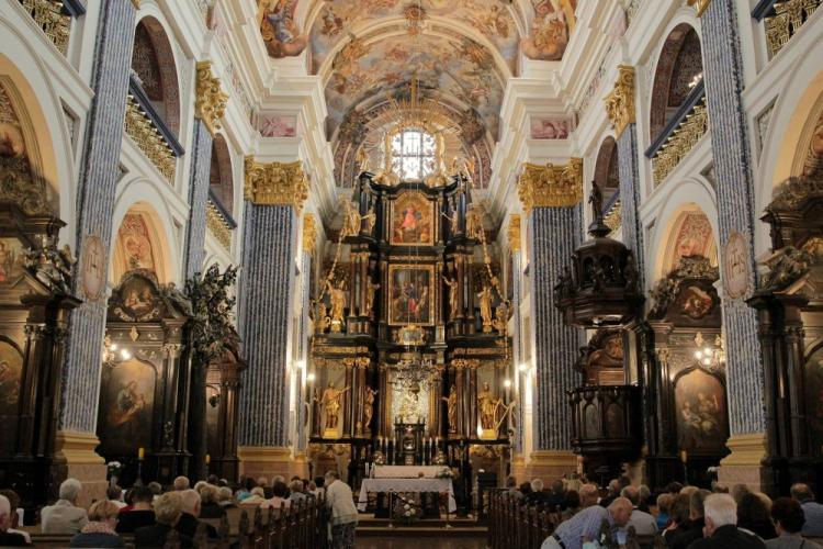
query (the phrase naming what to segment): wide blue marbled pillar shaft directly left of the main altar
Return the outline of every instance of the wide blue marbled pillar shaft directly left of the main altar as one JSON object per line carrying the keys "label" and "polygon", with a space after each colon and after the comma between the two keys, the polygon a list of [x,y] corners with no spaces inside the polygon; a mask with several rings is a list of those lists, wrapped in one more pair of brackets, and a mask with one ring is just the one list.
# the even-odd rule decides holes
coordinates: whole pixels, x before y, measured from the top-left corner
{"label": "wide blue marbled pillar shaft directly left of the main altar", "polygon": [[292,206],[247,202],[244,220],[240,337],[248,367],[239,395],[239,444],[284,447],[297,216]]}

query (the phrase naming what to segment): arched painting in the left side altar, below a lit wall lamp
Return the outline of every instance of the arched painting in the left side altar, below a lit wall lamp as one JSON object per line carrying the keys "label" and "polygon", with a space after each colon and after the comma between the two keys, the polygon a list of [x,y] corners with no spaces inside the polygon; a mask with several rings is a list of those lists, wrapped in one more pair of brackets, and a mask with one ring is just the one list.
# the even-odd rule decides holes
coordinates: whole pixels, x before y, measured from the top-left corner
{"label": "arched painting in the left side altar, below a lit wall lamp", "polygon": [[154,366],[136,358],[104,376],[98,434],[108,453],[137,455],[151,447],[156,381]]}

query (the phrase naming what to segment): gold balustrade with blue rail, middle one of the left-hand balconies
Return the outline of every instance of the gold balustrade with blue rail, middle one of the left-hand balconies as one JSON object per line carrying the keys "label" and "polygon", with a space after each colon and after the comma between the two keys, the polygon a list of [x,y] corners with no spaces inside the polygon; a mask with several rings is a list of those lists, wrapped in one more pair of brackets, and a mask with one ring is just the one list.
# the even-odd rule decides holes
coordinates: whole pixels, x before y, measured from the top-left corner
{"label": "gold balustrade with blue rail, middle one of the left-hand balconies", "polygon": [[173,183],[177,157],[184,153],[183,147],[151,107],[134,75],[128,82],[126,134],[169,183]]}

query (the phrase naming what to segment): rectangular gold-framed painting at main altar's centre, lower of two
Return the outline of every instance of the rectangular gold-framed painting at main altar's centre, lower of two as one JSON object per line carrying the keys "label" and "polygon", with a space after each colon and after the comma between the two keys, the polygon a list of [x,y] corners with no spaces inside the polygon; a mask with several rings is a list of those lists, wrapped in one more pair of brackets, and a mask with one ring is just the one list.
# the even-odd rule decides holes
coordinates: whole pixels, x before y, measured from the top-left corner
{"label": "rectangular gold-framed painting at main altar's centre, lower of two", "polygon": [[388,324],[435,324],[435,266],[388,266]]}

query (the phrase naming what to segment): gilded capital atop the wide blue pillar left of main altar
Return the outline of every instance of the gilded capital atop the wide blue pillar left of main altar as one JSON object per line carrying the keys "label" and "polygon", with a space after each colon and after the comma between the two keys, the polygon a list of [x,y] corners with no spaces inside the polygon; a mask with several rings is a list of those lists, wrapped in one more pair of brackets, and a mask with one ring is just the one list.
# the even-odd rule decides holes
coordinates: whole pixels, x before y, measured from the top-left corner
{"label": "gilded capital atop the wide blue pillar left of main altar", "polygon": [[247,156],[244,195],[255,204],[291,205],[300,212],[308,198],[303,163],[260,164],[253,156]]}

